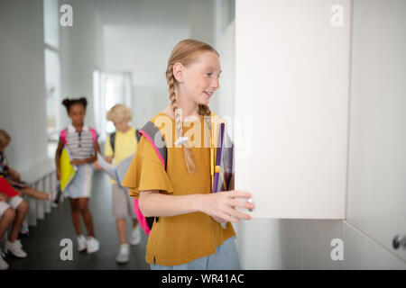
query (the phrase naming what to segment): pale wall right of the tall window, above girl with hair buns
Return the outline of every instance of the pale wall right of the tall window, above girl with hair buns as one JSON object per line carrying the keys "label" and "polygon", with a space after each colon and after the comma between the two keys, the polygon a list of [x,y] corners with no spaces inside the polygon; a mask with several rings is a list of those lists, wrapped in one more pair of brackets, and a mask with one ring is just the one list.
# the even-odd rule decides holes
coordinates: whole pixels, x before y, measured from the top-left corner
{"label": "pale wall right of the tall window, above girl with hair buns", "polygon": [[[93,71],[103,68],[102,21],[91,1],[60,1],[73,9],[73,26],[60,27],[60,97],[88,99],[85,122],[94,126]],[[69,124],[64,106],[60,104],[62,127]]]}

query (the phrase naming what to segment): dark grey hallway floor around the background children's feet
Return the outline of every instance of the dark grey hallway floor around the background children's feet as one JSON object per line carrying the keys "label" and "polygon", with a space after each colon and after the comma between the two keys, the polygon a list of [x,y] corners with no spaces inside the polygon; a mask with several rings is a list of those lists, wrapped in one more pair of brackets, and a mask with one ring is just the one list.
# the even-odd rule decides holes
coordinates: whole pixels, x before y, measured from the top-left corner
{"label": "dark grey hallway floor around the background children's feet", "polygon": [[[69,199],[65,199],[44,220],[37,220],[36,227],[30,227],[30,235],[21,237],[23,249],[28,257],[19,259],[7,253],[6,261],[10,270],[17,269],[112,269],[112,270],[148,270],[145,262],[147,236],[142,231],[143,240],[137,246],[131,246],[130,261],[117,264],[115,257],[119,248],[119,239],[115,229],[115,219],[111,215],[111,185],[106,174],[96,171],[93,175],[92,198],[89,202],[93,215],[96,238],[100,249],[95,254],[77,251],[77,240],[70,217]],[[129,236],[132,220],[127,220]],[[82,221],[82,231],[86,228]],[[73,260],[62,261],[60,246],[63,238],[70,238],[73,243]]]}

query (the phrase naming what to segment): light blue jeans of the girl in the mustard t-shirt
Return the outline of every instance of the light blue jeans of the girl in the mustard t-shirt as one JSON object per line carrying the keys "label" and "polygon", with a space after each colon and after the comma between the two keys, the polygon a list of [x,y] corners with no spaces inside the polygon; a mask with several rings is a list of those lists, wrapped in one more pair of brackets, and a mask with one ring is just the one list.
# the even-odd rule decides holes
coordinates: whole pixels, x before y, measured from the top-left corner
{"label": "light blue jeans of the girl in the mustard t-shirt", "polygon": [[151,265],[151,270],[241,270],[235,237],[226,239],[216,253],[177,266]]}

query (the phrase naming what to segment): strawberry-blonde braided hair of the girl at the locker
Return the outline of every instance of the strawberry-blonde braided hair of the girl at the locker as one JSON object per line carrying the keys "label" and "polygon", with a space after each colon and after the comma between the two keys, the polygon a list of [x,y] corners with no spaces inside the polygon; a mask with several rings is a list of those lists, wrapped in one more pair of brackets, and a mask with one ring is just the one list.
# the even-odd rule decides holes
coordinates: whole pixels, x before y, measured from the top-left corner
{"label": "strawberry-blonde braided hair of the girl at the locker", "polygon": [[[169,85],[169,98],[171,100],[171,107],[175,114],[175,130],[176,134],[178,134],[180,137],[183,137],[182,118],[181,112],[180,110],[178,110],[178,103],[176,101],[175,86],[177,85],[177,81],[173,76],[173,66],[175,65],[175,63],[180,63],[186,67],[189,64],[193,63],[198,55],[204,51],[214,52],[219,57],[217,50],[207,43],[192,39],[181,40],[172,50],[171,57],[168,60],[168,67],[166,68],[166,80]],[[208,105],[199,104],[198,114],[210,116],[210,108],[208,108]],[[193,159],[193,154],[190,148],[186,147],[183,144],[182,147],[188,172],[189,174],[194,174],[197,171],[197,167]]]}

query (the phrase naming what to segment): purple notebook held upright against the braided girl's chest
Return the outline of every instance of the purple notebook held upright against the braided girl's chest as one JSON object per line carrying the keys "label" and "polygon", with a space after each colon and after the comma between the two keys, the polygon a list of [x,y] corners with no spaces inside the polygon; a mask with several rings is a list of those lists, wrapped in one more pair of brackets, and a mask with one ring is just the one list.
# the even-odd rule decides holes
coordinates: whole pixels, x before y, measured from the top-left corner
{"label": "purple notebook held upright against the braided girl's chest", "polygon": [[232,179],[234,181],[233,160],[234,145],[226,131],[225,123],[221,123],[218,135],[217,157],[213,180],[213,193],[229,190],[229,187],[232,184]]}

